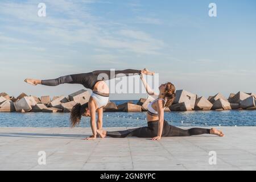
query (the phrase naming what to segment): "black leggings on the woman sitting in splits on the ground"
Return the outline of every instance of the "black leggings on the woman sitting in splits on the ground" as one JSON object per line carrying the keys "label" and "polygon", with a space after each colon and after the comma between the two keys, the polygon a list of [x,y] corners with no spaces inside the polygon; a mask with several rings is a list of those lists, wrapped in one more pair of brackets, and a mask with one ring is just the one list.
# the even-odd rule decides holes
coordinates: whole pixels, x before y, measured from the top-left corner
{"label": "black leggings on the woman sitting in splits on the ground", "polygon": [[[129,129],[125,131],[107,131],[106,135],[113,138],[125,137],[139,137],[139,138],[152,138],[158,135],[158,121],[151,121],[147,123],[147,127],[139,127],[138,129]],[[209,129],[192,128],[188,130],[180,129],[169,125],[164,121],[162,137],[188,137],[191,135],[210,134]]]}

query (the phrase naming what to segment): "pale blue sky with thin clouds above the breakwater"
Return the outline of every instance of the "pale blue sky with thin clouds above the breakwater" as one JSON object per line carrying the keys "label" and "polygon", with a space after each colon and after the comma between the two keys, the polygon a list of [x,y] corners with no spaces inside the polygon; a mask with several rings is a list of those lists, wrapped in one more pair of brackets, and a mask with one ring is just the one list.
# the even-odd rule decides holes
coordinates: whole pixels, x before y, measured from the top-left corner
{"label": "pale blue sky with thin clouds above the breakwater", "polygon": [[[159,73],[159,84],[199,96],[256,92],[255,22],[254,0],[1,0],[0,92],[67,96],[83,86],[23,80],[127,68],[148,68]],[[146,94],[110,99],[140,97]]]}

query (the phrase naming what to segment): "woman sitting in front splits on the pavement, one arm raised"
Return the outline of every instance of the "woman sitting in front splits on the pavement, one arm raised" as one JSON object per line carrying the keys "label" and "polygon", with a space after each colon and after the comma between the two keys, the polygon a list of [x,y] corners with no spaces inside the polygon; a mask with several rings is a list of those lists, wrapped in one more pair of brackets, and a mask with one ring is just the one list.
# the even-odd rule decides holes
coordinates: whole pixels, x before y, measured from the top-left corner
{"label": "woman sitting in front splits on the pavement, one arm raised", "polygon": [[175,126],[171,126],[167,121],[164,121],[164,108],[170,107],[175,100],[175,86],[171,82],[159,86],[160,94],[156,94],[141,74],[141,80],[150,96],[156,98],[155,101],[148,104],[147,111],[147,127],[140,127],[137,129],[129,129],[125,131],[104,131],[97,130],[101,138],[125,138],[125,137],[139,137],[152,138],[152,140],[160,140],[161,137],[188,137],[191,135],[213,134],[219,137],[224,137],[222,131],[217,129],[201,129],[192,128],[183,130]]}

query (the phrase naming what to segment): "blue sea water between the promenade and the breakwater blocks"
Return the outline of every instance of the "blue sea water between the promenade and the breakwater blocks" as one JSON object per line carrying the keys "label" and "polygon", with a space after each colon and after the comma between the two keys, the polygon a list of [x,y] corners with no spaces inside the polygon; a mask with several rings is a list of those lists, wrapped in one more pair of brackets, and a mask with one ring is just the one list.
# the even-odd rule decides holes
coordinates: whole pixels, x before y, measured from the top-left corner
{"label": "blue sea water between the promenade and the breakwater blocks", "polygon": [[[127,101],[114,102],[118,105]],[[174,126],[256,126],[256,110],[172,111],[165,112],[164,119]],[[146,126],[146,112],[105,112],[103,125],[104,127]],[[0,127],[69,126],[69,113],[0,113]],[[90,127],[90,118],[82,117],[80,127]]]}

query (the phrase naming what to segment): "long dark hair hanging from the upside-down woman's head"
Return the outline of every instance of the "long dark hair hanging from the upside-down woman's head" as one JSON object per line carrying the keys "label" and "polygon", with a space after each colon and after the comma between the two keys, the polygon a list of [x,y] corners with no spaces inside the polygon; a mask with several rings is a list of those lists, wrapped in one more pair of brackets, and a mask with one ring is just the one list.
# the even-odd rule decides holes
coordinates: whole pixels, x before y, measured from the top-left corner
{"label": "long dark hair hanging from the upside-down woman's head", "polygon": [[73,106],[70,114],[70,121],[71,121],[71,127],[75,127],[76,125],[79,125],[82,114],[85,113],[86,108],[88,108],[88,103],[81,105],[80,103]]}

